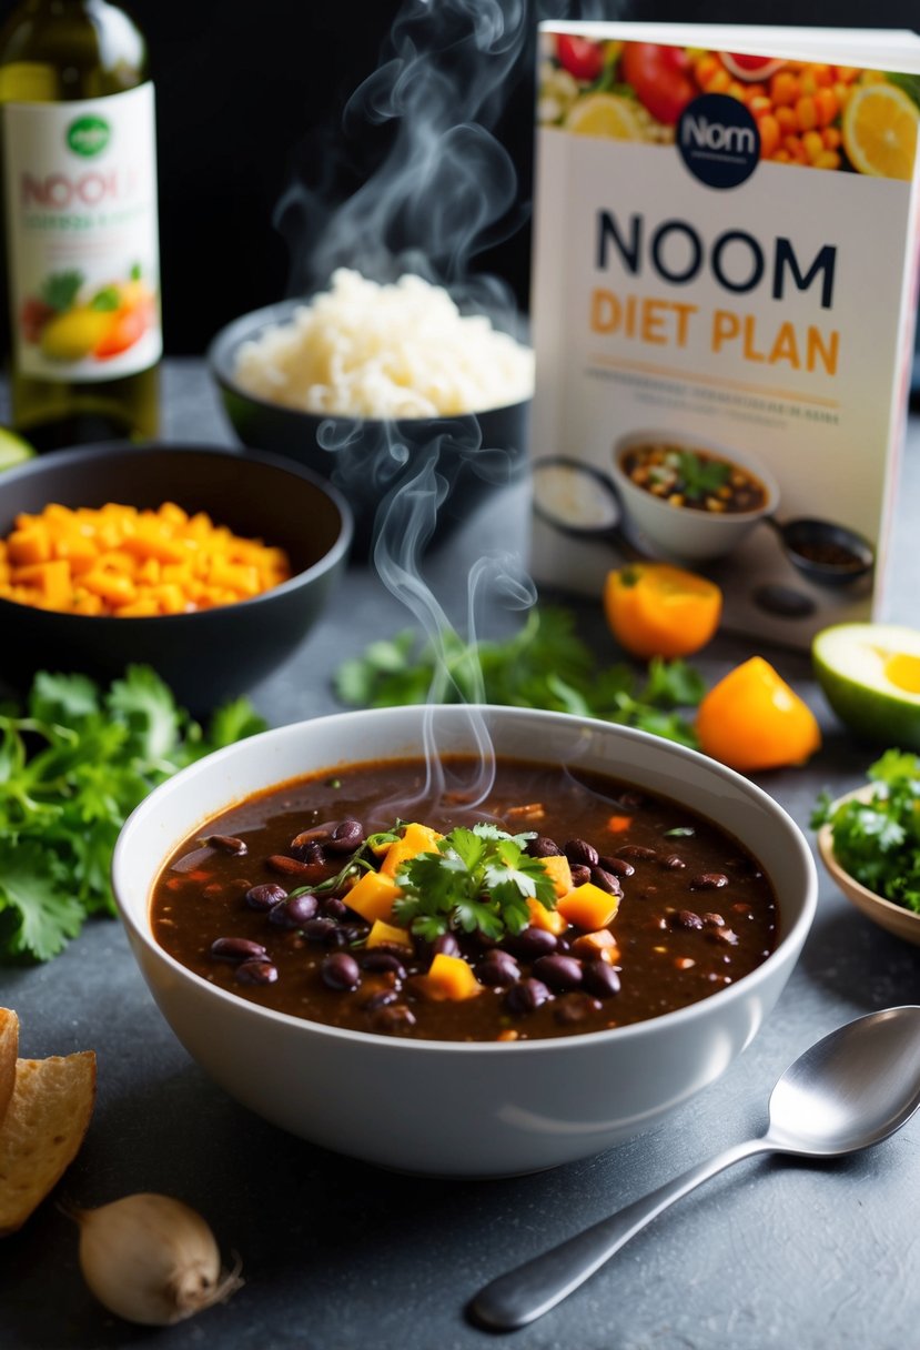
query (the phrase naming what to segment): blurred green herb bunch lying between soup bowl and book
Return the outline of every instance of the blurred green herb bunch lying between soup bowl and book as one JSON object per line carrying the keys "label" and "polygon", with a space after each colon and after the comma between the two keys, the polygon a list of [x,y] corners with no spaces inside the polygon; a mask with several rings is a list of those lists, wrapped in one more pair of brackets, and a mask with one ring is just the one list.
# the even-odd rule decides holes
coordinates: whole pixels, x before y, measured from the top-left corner
{"label": "blurred green herb bunch lying between soup bowl and book", "polygon": [[[444,634],[451,701],[548,707],[607,722],[638,726],[681,745],[697,747],[680,709],[704,694],[700,674],[683,660],[653,657],[642,679],[633,666],[599,668],[575,632],[575,616],[561,608],[534,606],[518,633],[505,641],[464,643]],[[353,707],[424,703],[440,657],[422,647],[414,629],[371,643],[336,672],[336,694]]]}

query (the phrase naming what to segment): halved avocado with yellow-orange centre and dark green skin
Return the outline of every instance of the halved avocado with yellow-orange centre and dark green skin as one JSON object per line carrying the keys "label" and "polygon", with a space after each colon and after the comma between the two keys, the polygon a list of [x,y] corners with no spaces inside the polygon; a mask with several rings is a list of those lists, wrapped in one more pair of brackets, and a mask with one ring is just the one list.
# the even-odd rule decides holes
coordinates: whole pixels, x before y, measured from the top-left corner
{"label": "halved avocado with yellow-orange centre and dark green skin", "polygon": [[812,643],[815,676],[857,736],[920,751],[920,630],[897,624],[834,624]]}

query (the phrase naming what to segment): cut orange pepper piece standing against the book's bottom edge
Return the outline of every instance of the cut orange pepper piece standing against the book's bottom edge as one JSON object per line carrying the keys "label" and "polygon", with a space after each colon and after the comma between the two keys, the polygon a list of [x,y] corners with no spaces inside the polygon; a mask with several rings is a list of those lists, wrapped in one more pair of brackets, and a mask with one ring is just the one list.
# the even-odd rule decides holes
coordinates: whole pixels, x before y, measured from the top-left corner
{"label": "cut orange pepper piece standing against the book's bottom edge", "polygon": [[722,617],[715,582],[670,563],[629,563],[608,572],[603,603],[616,641],[643,660],[691,656]]}

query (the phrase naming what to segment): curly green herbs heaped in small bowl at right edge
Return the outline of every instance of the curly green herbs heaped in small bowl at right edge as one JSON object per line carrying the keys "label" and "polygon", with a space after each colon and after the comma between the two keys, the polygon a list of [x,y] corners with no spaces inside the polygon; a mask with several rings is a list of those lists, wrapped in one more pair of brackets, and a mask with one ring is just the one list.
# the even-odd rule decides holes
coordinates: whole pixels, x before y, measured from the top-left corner
{"label": "curly green herbs heaped in small bowl at right edge", "polygon": [[823,792],[811,824],[831,825],[834,855],[850,876],[920,914],[920,757],[885,751],[869,778],[878,784],[871,801],[834,809]]}

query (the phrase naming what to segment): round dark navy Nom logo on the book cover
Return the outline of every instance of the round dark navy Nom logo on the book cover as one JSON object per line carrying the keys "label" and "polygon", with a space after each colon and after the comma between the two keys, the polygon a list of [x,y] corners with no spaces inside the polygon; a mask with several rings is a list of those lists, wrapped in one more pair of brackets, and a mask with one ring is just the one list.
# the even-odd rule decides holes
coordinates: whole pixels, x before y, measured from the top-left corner
{"label": "round dark navy Nom logo on the book cover", "polygon": [[707,188],[737,188],[759,162],[761,134],[743,103],[704,93],[684,108],[677,123],[681,159]]}

